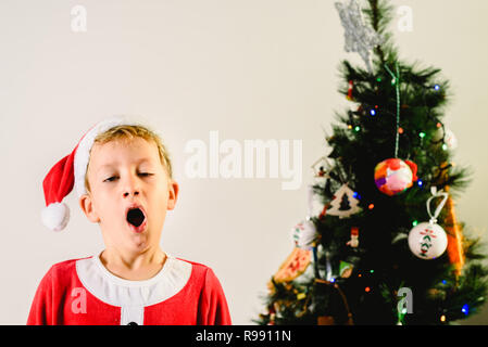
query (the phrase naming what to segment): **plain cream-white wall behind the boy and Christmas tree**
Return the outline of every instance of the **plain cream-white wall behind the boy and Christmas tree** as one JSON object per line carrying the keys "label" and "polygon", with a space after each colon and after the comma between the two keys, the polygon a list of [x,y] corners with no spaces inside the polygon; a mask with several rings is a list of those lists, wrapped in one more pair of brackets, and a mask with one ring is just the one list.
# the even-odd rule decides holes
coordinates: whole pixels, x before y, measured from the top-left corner
{"label": "plain cream-white wall behind the boy and Christmas tree", "polygon": [[[452,83],[447,125],[456,162],[474,181],[458,200],[459,219],[486,235],[488,183],[488,3],[396,0],[413,10],[413,31],[396,31],[401,56],[440,67]],[[87,10],[74,33],[71,10]],[[260,295],[292,248],[305,213],[309,166],[325,153],[323,129],[346,101],[337,92],[343,29],[333,1],[22,1],[0,2],[0,324],[24,324],[49,267],[102,247],[98,228],[67,197],[72,220],[42,227],[41,182],[96,121],[140,114],[164,132],[180,183],[163,249],[212,267],[234,323],[263,310]],[[185,144],[221,140],[303,141],[303,184],[281,179],[189,179]],[[488,310],[471,322],[488,322]]]}

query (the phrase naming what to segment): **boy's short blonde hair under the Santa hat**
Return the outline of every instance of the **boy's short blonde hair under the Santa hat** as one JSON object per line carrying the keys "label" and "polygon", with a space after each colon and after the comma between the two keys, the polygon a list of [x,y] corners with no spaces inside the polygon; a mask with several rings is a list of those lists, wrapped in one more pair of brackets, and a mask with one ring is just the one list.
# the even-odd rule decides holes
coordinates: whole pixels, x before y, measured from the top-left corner
{"label": "boy's short blonde hair under the Santa hat", "polygon": [[[167,153],[166,147],[164,146],[161,138],[157,133],[154,133],[153,131],[149,130],[148,128],[146,128],[143,126],[122,125],[122,126],[116,126],[116,127],[110,128],[109,130],[107,130],[102,133],[99,133],[95,138],[93,145],[97,143],[105,144],[111,141],[130,141],[130,140],[134,140],[135,138],[141,138],[148,142],[153,141],[157,144],[158,152],[160,154],[161,164],[166,169],[166,172],[167,172],[167,176],[170,177],[170,179],[172,179],[173,178],[173,169],[171,166],[170,154]],[[93,147],[93,146],[91,146],[91,147]],[[91,153],[91,150],[90,150],[90,153]],[[87,165],[87,172],[88,172],[88,166],[89,166],[89,162]],[[85,189],[87,190],[87,192],[90,192],[88,175],[85,175]]]}

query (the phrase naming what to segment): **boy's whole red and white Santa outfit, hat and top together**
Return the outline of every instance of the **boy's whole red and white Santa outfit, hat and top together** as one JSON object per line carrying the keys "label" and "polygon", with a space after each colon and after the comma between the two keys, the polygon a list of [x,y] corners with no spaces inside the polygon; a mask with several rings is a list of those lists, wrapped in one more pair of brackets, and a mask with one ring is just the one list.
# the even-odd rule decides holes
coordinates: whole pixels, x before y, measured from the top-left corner
{"label": "boy's whole red and white Santa outfit, hat and top together", "polygon": [[[70,209],[62,200],[73,185],[78,196],[85,192],[86,167],[95,138],[121,124],[142,125],[125,117],[102,121],[51,168],[43,180],[47,207],[41,216],[48,228],[65,228]],[[112,274],[97,255],[52,266],[37,288],[27,324],[207,325],[232,321],[222,286],[204,265],[166,254],[157,275],[129,281]]]}

